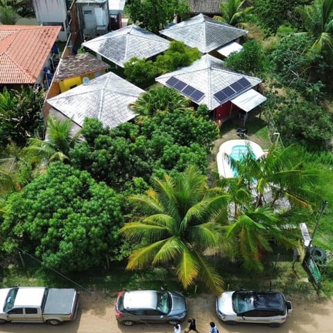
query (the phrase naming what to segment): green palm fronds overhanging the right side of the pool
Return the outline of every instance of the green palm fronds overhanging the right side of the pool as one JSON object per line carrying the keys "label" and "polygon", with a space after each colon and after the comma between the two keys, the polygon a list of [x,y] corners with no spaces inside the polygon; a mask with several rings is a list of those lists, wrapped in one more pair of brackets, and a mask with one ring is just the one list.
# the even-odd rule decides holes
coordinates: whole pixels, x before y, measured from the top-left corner
{"label": "green palm fronds overhanging the right side of the pool", "polygon": [[231,164],[248,188],[256,191],[255,207],[263,205],[267,196],[271,197],[271,205],[285,197],[291,205],[309,209],[318,200],[316,192],[311,190],[318,172],[304,169],[302,161],[293,154],[292,145],[287,148],[272,146],[259,160],[248,153],[240,161],[231,159]]}

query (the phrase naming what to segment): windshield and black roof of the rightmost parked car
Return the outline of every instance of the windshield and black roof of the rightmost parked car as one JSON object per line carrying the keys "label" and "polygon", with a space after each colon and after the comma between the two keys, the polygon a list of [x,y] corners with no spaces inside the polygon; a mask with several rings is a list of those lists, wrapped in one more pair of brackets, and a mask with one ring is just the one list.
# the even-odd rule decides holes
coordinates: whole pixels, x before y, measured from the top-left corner
{"label": "windshield and black roof of the rightmost parked car", "polygon": [[232,295],[232,307],[237,314],[255,309],[275,309],[283,313],[284,301],[280,293],[237,291]]}

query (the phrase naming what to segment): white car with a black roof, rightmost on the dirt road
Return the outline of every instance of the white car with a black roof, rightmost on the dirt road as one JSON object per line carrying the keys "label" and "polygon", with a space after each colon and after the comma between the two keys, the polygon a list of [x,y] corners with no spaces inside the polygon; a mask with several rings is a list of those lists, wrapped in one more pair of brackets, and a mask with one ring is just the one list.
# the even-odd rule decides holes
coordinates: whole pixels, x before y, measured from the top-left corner
{"label": "white car with a black roof, rightmost on the dirt road", "polygon": [[216,312],[226,324],[265,323],[279,327],[292,311],[282,293],[271,291],[225,291],[216,300]]}

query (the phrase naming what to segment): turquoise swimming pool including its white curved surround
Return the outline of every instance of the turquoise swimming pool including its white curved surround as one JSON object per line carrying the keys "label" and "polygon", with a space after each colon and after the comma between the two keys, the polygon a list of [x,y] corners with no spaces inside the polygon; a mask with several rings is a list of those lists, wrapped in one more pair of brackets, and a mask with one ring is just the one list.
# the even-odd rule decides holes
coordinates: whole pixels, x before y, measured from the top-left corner
{"label": "turquoise swimming pool including its white curved surround", "polygon": [[219,148],[219,153],[216,155],[217,169],[221,178],[234,178],[237,173],[232,170],[230,165],[230,157],[234,160],[241,160],[250,152],[256,159],[264,155],[264,151],[259,144],[250,140],[237,139],[223,142]]}

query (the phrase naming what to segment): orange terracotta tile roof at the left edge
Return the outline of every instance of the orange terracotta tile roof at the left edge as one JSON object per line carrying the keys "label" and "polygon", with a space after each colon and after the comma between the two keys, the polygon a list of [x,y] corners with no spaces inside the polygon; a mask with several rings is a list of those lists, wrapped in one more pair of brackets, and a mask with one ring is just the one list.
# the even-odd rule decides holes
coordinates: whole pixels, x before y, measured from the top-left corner
{"label": "orange terracotta tile roof at the left edge", "polygon": [[0,25],[0,84],[33,84],[61,26]]}

